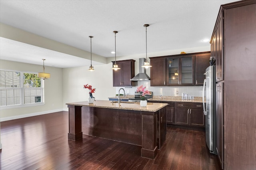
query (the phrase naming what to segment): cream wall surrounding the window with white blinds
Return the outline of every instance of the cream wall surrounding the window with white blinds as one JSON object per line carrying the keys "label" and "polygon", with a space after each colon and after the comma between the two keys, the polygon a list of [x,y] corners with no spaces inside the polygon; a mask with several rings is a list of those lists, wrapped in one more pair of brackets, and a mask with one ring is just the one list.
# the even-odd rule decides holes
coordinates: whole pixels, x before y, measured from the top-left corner
{"label": "cream wall surrounding the window with white blinds", "polygon": [[[41,72],[42,65],[19,63],[14,61],[0,60],[0,68],[14,71]],[[44,80],[45,104],[34,107],[22,107],[1,110],[0,120],[6,121],[33,115],[41,115],[63,110],[62,96],[62,69],[45,66],[45,71],[51,74],[51,78]]]}

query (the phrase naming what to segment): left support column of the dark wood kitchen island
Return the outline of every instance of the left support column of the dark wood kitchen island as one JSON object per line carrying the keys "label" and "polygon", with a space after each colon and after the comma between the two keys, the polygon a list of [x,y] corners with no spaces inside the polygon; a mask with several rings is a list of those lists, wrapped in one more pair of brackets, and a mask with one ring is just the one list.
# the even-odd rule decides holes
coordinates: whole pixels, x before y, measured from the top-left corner
{"label": "left support column of the dark wood kitchen island", "polygon": [[82,134],[82,106],[68,105],[68,139],[78,140],[83,137]]}

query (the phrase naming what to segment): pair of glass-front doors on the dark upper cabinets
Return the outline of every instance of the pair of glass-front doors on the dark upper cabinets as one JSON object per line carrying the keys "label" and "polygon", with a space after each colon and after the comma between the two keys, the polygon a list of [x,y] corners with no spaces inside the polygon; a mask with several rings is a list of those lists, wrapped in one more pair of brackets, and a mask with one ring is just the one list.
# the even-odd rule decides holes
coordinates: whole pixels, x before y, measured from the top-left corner
{"label": "pair of glass-front doors on the dark upper cabinets", "polygon": [[167,59],[167,85],[194,85],[194,56]]}

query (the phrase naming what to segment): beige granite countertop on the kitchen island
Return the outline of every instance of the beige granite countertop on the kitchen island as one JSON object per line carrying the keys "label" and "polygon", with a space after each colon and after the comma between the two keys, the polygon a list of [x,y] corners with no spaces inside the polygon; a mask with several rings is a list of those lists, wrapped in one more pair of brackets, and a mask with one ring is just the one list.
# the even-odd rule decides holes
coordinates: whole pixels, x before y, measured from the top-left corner
{"label": "beige granite countertop on the kitchen island", "polygon": [[148,112],[156,112],[163,107],[167,106],[166,103],[148,103],[146,107],[141,107],[140,102],[122,102],[120,105],[112,101],[107,100],[96,100],[94,103],[88,103],[88,101],[74,102],[74,103],[66,103],[66,105],[74,105],[74,106],[89,106],[89,107],[100,107],[100,108],[108,108],[108,109],[122,109],[122,110],[134,110],[134,111],[148,111]]}

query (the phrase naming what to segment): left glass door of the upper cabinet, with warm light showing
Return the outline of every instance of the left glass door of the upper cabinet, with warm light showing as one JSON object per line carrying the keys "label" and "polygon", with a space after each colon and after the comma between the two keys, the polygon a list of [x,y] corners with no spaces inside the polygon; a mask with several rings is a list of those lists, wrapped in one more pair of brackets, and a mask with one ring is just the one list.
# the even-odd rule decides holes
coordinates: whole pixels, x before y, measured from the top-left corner
{"label": "left glass door of the upper cabinet, with warm light showing", "polygon": [[179,85],[180,59],[179,57],[167,58],[167,85]]}

